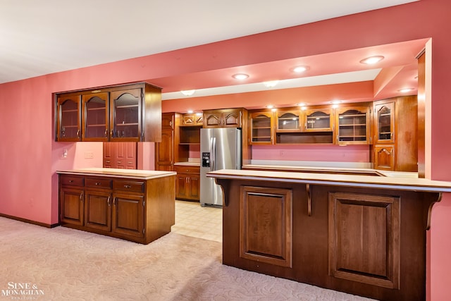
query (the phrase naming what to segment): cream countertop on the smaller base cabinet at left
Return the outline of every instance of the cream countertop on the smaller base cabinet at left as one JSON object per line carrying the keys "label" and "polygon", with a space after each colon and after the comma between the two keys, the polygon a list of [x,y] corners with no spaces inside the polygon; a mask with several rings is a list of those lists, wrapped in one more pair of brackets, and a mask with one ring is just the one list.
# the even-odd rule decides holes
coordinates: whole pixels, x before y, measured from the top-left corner
{"label": "cream countertop on the smaller base cabinet at left", "polygon": [[121,169],[121,168],[80,168],[67,171],[56,171],[56,173],[82,175],[82,176],[109,176],[112,178],[135,178],[140,180],[149,180],[152,178],[162,178],[167,176],[175,176],[174,171],[146,171],[140,169]]}

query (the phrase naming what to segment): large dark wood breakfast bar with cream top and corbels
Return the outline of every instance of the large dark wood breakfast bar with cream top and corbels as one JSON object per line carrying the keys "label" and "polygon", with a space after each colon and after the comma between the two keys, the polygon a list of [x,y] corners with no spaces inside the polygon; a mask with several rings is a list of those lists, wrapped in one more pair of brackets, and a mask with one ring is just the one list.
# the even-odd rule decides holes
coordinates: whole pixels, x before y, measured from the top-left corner
{"label": "large dark wood breakfast bar with cream top and corbels", "polygon": [[221,170],[223,264],[377,300],[426,300],[426,229],[451,183]]}

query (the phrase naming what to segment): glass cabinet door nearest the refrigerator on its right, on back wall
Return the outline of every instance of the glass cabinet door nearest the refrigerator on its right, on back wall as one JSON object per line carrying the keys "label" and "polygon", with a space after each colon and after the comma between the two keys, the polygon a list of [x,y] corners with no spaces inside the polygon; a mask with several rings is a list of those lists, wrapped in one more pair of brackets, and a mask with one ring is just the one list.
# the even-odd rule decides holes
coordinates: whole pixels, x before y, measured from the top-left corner
{"label": "glass cabinet door nearest the refrigerator on its right, on back wall", "polygon": [[271,145],[273,143],[273,113],[256,112],[251,114],[251,143]]}

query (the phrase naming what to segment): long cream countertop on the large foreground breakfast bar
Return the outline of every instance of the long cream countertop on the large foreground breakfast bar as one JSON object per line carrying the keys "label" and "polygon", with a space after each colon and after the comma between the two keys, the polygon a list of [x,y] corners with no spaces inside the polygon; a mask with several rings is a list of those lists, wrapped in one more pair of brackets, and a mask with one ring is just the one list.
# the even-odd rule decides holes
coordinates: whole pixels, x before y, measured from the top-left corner
{"label": "long cream countertop on the large foreground breakfast bar", "polygon": [[425,192],[451,192],[451,182],[401,176],[360,176],[338,173],[293,173],[289,171],[221,169],[206,174],[210,178],[264,180],[316,185],[352,186]]}

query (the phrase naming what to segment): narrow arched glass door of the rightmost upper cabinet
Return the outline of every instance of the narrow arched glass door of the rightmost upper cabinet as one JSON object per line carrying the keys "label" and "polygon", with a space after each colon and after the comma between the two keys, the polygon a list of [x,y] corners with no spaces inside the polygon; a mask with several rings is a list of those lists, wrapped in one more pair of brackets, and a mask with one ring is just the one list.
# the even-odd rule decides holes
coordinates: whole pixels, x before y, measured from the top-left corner
{"label": "narrow arched glass door of the rightmost upper cabinet", "polygon": [[394,143],[395,135],[395,103],[377,104],[374,106],[376,124],[375,124],[375,143]]}

